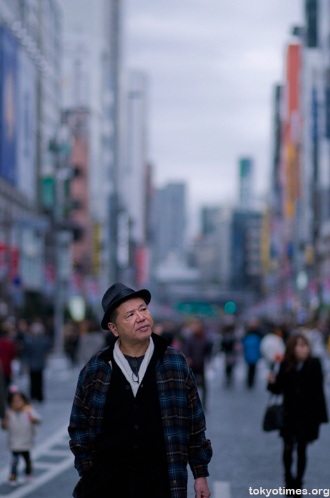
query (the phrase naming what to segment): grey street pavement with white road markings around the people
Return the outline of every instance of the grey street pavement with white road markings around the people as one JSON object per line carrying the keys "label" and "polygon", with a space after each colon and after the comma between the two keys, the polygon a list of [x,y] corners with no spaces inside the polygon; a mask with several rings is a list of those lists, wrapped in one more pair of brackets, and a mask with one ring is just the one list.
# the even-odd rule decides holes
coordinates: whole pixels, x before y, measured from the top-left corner
{"label": "grey street pavement with white road markings around the people", "polygon": [[[324,366],[327,368],[327,365]],[[245,387],[244,361],[236,366],[235,384],[224,387],[222,358],[217,357],[208,368],[207,435],[213,444],[209,483],[215,498],[245,498],[249,487],[279,489],[283,486],[281,439],[277,433],[264,433],[261,419],[267,403],[263,361],[258,364],[258,378],[252,390]],[[78,474],[68,448],[67,425],[72,404],[77,369],[69,368],[62,357],[53,356],[47,368],[47,399],[36,406],[43,418],[33,450],[34,479],[8,485],[10,453],[6,449],[6,432],[0,434],[0,497],[65,498],[72,496]],[[27,378],[17,380],[27,386]],[[330,406],[329,378],[326,382]],[[308,469],[304,487],[311,494],[315,488],[330,488],[330,426],[322,426],[320,439],[308,449]],[[23,467],[23,465],[22,465]],[[21,467],[21,469],[22,469]],[[190,473],[190,471],[189,471]],[[24,476],[22,476],[22,479]],[[194,498],[190,473],[188,498]],[[275,492],[270,496],[279,495]],[[256,492],[254,493],[256,495]],[[320,495],[322,496],[322,495]],[[155,497],[156,498],[156,497]]]}

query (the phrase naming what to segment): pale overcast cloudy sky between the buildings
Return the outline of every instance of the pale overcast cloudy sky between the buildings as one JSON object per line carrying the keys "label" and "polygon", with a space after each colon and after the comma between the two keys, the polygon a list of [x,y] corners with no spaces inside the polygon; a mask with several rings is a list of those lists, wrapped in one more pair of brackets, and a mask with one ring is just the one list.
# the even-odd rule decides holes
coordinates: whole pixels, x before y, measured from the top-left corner
{"label": "pale overcast cloudy sky between the buildings", "polygon": [[126,0],[126,65],[149,75],[158,186],[183,180],[190,209],[238,198],[238,159],[269,185],[274,84],[303,0]]}

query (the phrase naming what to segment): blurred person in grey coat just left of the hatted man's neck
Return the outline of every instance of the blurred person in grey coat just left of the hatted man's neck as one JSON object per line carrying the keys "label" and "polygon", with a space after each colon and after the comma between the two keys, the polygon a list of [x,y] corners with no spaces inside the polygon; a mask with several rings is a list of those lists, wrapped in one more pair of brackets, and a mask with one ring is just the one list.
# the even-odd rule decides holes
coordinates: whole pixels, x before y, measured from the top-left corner
{"label": "blurred person in grey coat just left of the hatted man's neck", "polygon": [[83,320],[77,347],[79,365],[84,366],[90,357],[106,346],[106,336],[94,320]]}

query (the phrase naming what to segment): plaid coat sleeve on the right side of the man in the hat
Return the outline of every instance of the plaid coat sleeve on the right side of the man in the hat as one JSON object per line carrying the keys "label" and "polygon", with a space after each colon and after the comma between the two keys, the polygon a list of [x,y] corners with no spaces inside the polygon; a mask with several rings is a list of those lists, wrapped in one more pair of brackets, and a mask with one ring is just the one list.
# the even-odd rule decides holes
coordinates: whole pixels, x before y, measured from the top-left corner
{"label": "plaid coat sleeve on the right side of the man in the hat", "polygon": [[195,378],[188,367],[185,378],[188,396],[188,417],[190,430],[190,444],[188,449],[188,462],[194,478],[207,477],[208,462],[212,457],[210,439],[206,439],[206,421],[201,400],[197,392]]}

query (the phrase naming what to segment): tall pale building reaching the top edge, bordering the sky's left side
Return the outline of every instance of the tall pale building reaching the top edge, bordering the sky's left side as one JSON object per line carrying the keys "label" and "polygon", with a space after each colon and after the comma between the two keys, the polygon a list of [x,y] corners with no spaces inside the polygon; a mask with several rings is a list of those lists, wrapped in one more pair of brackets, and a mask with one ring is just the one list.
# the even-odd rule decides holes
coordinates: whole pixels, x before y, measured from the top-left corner
{"label": "tall pale building reaching the top edge, bordering the sky's left side", "polygon": [[[121,223],[118,176],[122,166],[122,3],[63,1],[63,110],[85,116],[86,243],[92,261],[82,274],[102,294],[117,277]],[[73,159],[72,159],[73,160]],[[82,185],[82,184],[81,184]],[[86,206],[85,206],[86,207]],[[79,210],[77,210],[78,213]],[[76,214],[78,215],[78,214]],[[88,235],[92,234],[92,235]],[[87,246],[85,254],[87,254]],[[89,296],[86,286],[81,289]]]}

